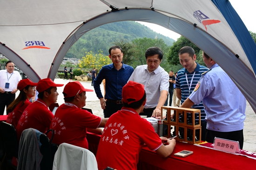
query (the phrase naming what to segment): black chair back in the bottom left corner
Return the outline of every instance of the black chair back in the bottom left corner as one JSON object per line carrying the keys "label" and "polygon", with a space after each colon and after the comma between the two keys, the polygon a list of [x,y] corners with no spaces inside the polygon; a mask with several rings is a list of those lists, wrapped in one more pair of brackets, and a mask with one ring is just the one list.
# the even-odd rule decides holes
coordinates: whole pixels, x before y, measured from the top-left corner
{"label": "black chair back in the bottom left corner", "polygon": [[9,167],[17,169],[17,167],[12,164],[12,158],[15,157],[18,159],[19,152],[19,142],[15,127],[6,122],[1,122],[1,133],[7,154],[7,170]]}

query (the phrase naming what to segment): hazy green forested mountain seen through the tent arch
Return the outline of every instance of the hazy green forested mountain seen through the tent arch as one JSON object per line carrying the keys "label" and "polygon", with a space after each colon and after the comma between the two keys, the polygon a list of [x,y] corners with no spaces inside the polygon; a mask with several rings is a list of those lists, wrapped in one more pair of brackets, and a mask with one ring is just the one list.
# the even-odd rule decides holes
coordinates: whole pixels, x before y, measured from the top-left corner
{"label": "hazy green forested mountain seen through the tent arch", "polygon": [[98,50],[108,55],[108,49],[114,45],[115,41],[121,39],[132,41],[135,38],[162,38],[168,46],[172,46],[174,39],[163,36],[162,34],[152,31],[147,26],[141,25],[135,21],[121,21],[101,25],[88,31],[67,51],[67,58],[82,58],[85,52],[92,51],[94,54]]}

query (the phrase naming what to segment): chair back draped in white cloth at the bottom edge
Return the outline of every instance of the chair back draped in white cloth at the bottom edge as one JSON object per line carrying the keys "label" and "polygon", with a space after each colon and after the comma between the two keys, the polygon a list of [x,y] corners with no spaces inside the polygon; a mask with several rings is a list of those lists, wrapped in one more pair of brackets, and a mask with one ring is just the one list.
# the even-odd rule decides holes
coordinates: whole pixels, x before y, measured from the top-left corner
{"label": "chair back draped in white cloth at the bottom edge", "polygon": [[62,143],[55,153],[53,170],[98,170],[98,165],[91,151]]}

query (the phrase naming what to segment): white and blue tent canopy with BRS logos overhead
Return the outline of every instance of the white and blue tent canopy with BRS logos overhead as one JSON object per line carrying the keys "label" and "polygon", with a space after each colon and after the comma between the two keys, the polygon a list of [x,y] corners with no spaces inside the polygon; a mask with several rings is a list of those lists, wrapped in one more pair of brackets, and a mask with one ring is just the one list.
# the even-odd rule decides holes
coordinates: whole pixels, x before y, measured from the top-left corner
{"label": "white and blue tent canopy with BRS logos overhead", "polygon": [[256,112],[256,44],[228,0],[0,0],[0,16],[0,53],[34,82],[54,79],[67,50],[87,31],[144,21],[205,51]]}

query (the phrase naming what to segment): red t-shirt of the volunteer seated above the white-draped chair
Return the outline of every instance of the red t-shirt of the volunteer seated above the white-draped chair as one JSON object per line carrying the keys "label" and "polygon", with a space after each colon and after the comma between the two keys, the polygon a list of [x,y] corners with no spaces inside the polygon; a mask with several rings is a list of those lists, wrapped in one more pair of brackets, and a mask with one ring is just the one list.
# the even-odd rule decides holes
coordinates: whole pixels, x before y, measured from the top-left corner
{"label": "red t-shirt of the volunteer seated above the white-draped chair", "polygon": [[[101,117],[66,102],[57,108],[50,129],[54,130],[54,144],[67,143],[88,149],[87,127],[95,129]],[[49,133],[51,136],[52,133]]]}

